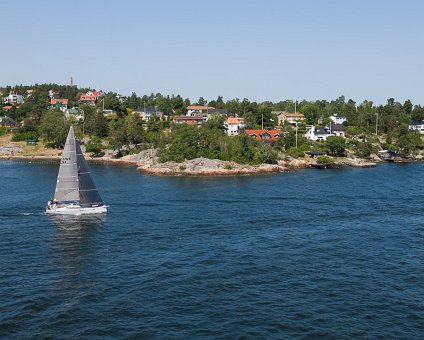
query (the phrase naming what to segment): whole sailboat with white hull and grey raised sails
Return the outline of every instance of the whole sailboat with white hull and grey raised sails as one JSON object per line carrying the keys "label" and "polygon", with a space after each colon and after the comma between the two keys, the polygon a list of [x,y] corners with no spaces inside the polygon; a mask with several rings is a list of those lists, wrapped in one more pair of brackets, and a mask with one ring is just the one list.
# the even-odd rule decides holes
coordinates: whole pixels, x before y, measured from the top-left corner
{"label": "whole sailboat with white hull and grey raised sails", "polygon": [[105,213],[96,185],[90,175],[81,147],[75,138],[74,128],[69,129],[59,166],[54,198],[47,203],[48,214]]}

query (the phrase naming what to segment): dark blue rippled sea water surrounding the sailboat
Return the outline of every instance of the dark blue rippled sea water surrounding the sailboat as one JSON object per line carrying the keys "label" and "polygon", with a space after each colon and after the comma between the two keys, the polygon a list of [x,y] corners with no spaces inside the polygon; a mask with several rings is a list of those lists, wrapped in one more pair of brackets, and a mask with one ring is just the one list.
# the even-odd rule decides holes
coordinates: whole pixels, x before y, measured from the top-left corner
{"label": "dark blue rippled sea water surrounding the sailboat", "polygon": [[57,164],[0,162],[0,337],[424,337],[424,163],[227,178],[91,165],[103,217],[46,216]]}

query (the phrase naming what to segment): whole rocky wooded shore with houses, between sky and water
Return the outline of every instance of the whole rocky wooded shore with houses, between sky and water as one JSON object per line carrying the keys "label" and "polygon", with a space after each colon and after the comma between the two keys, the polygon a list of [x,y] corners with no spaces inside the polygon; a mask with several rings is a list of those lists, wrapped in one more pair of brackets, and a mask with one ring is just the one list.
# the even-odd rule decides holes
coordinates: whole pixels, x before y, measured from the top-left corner
{"label": "whole rocky wooded shore with houses, between sky and water", "polygon": [[[410,100],[192,103],[180,95],[122,96],[57,84],[0,87],[0,98],[0,159],[55,161],[70,125],[89,161],[156,176],[372,167],[424,154],[424,107]],[[297,118],[285,119],[290,114]],[[234,122],[241,124],[236,130]]]}

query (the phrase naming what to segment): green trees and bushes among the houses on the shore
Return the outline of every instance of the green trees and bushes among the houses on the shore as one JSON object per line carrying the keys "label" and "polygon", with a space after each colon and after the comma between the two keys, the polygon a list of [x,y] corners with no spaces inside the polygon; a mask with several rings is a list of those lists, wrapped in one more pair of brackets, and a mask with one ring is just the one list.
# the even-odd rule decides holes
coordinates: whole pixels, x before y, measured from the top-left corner
{"label": "green trees and bushes among the houses on the shore", "polygon": [[[269,154],[268,158],[265,157],[266,161],[274,161],[275,154],[281,150],[295,157],[311,149],[325,150],[325,143],[307,141],[302,135],[306,132],[307,124],[319,125],[318,122],[321,122],[321,125],[325,125],[329,122],[329,116],[334,114],[347,118],[345,128],[349,137],[353,138],[349,138],[346,148],[362,156],[375,152],[377,145],[398,150],[403,155],[413,154],[422,146],[420,136],[408,130],[408,123],[411,120],[423,120],[424,108],[421,105],[413,105],[410,100],[400,103],[389,98],[384,105],[374,105],[368,100],[357,104],[352,99],[346,100],[344,96],[340,96],[332,101],[302,100],[295,103],[293,100],[283,100],[273,103],[252,102],[247,98],[224,101],[223,97],[219,96],[209,101],[200,97],[196,102],[191,102],[180,95],[160,93],[143,96],[132,93],[122,100],[117,93],[107,92],[100,102],[90,106],[79,102],[80,95],[89,90],[91,89],[57,84],[6,86],[0,88],[3,97],[9,92],[15,92],[24,95],[25,103],[19,108],[12,107],[7,111],[0,106],[0,116],[7,115],[23,122],[23,126],[15,129],[14,140],[43,138],[51,146],[60,146],[66,138],[69,124],[74,124],[80,137],[88,136],[94,137],[95,141],[96,138],[107,141],[112,148],[129,145],[160,148],[162,160],[181,160],[194,156],[235,160],[239,154],[243,155],[240,156],[243,162],[255,163],[264,161],[263,154]],[[49,91],[54,93],[55,98],[68,99],[68,107],[83,110],[84,121],[66,120],[62,112],[51,110]],[[269,152],[269,143],[254,143],[251,139],[244,140],[242,136],[227,138],[222,125],[218,128],[216,121],[200,129],[171,128],[169,120],[163,122],[151,119],[145,123],[134,114],[134,110],[140,107],[156,107],[172,119],[174,115],[185,114],[188,105],[195,104],[227,109],[230,115],[243,117],[246,128],[251,129],[261,128],[262,124],[265,129],[272,129],[277,124],[273,111],[294,112],[295,107],[305,115],[306,121],[305,124],[299,125],[297,142],[295,131],[286,125],[284,139],[273,143],[272,152]],[[116,116],[107,119],[101,112],[103,107],[114,110]],[[185,149],[183,145],[186,145]],[[263,150],[258,151],[256,148]],[[181,151],[182,149],[185,151]]]}

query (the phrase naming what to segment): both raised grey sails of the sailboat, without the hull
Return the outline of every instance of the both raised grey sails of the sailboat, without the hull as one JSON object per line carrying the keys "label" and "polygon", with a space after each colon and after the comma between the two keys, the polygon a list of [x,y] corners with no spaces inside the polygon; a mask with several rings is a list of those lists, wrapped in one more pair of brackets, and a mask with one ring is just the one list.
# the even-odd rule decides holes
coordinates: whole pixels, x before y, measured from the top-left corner
{"label": "both raised grey sails of the sailboat, without the hull", "polygon": [[60,161],[54,195],[57,201],[79,201],[82,208],[103,204],[71,126]]}

